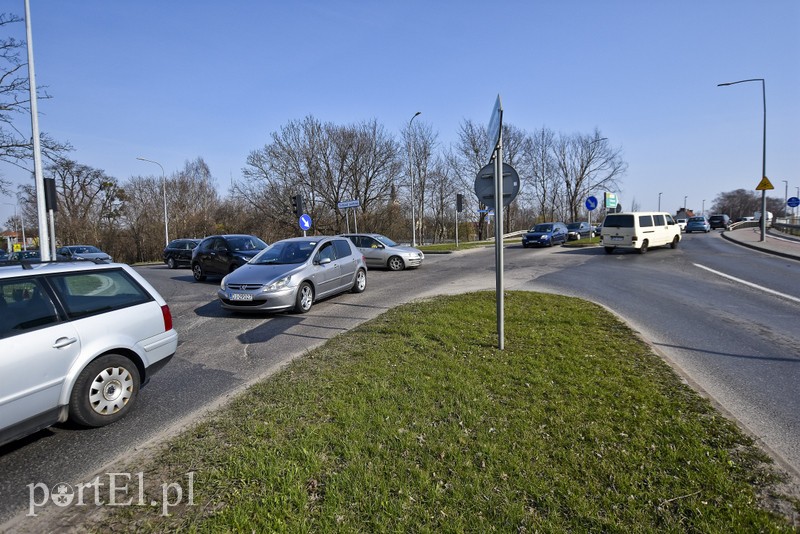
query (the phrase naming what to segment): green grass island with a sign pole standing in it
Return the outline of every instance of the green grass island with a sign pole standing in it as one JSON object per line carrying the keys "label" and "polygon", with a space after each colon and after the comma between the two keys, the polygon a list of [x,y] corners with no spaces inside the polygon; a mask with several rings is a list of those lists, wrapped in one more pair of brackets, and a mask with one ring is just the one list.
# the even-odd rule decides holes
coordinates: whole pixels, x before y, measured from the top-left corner
{"label": "green grass island with a sign pole standing in it", "polygon": [[[625,325],[585,301],[494,293],[393,309],[172,440],[194,505],[98,529],[791,532],[768,458]],[[773,495],[773,500],[774,500]],[[149,501],[149,498],[148,498]]]}

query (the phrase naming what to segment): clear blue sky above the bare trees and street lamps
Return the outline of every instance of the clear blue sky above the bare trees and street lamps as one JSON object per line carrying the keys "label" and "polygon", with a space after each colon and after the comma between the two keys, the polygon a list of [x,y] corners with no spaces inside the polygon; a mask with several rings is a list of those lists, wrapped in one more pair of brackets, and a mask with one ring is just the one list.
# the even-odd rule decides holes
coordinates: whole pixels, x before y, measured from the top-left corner
{"label": "clear blue sky above the bare trees and street lamps", "polygon": [[717,84],[764,78],[771,196],[800,186],[797,0],[30,3],[36,80],[54,97],[40,129],[120,180],[160,174],[137,156],[167,174],[202,157],[224,194],[252,150],[308,115],[399,135],[421,111],[448,145],[500,94],[519,128],[597,128],[620,148],[626,209],[656,209],[659,192],[662,209],[685,196],[708,209],[761,174],[761,84]]}

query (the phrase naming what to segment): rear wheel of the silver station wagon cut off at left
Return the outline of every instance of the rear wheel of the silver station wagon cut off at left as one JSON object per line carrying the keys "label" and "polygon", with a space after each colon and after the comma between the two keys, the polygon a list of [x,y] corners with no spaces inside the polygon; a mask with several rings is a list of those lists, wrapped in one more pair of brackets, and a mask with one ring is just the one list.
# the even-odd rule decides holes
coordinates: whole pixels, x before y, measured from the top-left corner
{"label": "rear wheel of the silver station wagon cut off at left", "polygon": [[94,360],[78,375],[69,399],[69,415],[82,426],[99,427],[121,419],[139,394],[136,364],[119,354]]}

